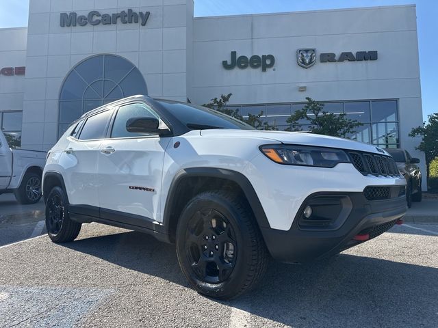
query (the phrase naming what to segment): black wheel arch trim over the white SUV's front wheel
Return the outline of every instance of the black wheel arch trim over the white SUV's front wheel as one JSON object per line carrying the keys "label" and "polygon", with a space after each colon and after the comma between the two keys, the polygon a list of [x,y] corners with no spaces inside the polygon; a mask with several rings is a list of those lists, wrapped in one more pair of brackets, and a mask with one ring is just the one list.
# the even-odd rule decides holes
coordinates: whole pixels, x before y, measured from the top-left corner
{"label": "black wheel arch trim over the white SUV's front wheel", "polygon": [[231,180],[239,185],[239,187],[244,192],[248,203],[253,210],[255,218],[259,228],[270,228],[268,218],[266,217],[265,210],[261,206],[261,202],[253,184],[240,172],[233,171],[231,169],[218,169],[216,167],[190,167],[186,169],[181,169],[177,174],[175,174],[166,197],[166,204],[164,206],[164,216],[163,216],[163,226],[170,234],[170,217],[172,214],[172,208],[177,202],[177,190],[179,183],[182,182],[184,178],[188,177],[205,177],[205,178],[221,178],[224,180]]}

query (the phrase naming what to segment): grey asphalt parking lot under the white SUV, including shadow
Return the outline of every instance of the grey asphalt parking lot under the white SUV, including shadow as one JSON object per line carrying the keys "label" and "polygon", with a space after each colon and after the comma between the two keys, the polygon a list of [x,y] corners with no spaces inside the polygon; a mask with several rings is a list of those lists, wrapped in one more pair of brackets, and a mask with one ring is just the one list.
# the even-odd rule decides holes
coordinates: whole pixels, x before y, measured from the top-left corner
{"label": "grey asphalt parking lot under the white SUV, including shadow", "polygon": [[0,327],[437,327],[438,225],[396,226],[306,265],[271,262],[231,302],[198,295],[175,247],[97,223],[0,247]]}

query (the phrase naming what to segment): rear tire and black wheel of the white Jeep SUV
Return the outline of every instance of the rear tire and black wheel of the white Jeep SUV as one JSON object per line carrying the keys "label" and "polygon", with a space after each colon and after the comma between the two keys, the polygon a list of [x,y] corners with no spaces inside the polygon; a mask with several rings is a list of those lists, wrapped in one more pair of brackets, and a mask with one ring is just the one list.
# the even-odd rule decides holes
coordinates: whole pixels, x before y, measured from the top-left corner
{"label": "rear tire and black wheel of the white Jeep SUV", "polygon": [[81,231],[81,223],[70,219],[68,200],[61,187],[53,187],[46,202],[47,234],[54,243],[74,241]]}

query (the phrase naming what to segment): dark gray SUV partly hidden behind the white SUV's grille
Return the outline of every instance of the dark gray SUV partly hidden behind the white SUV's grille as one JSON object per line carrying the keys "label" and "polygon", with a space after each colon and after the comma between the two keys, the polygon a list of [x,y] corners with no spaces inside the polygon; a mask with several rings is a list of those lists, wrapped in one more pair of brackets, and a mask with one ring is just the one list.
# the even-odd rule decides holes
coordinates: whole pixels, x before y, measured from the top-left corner
{"label": "dark gray SUV partly hidden behind the white SUV's grille", "polygon": [[397,163],[398,169],[406,178],[406,200],[408,207],[412,206],[412,202],[422,201],[422,172],[420,172],[420,159],[412,157],[407,150],[404,149],[385,149]]}

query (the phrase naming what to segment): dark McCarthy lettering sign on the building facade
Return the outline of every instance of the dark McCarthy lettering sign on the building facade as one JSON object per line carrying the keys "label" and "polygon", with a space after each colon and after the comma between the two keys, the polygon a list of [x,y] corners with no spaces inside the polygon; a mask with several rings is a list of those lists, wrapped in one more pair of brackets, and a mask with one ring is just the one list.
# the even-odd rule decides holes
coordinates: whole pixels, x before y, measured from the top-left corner
{"label": "dark McCarthy lettering sign on the building facade", "polygon": [[60,25],[61,27],[70,27],[76,25],[85,26],[88,23],[90,23],[90,25],[110,25],[117,24],[117,21],[119,19],[120,23],[122,24],[131,24],[138,23],[140,18],[140,24],[144,26],[146,25],[150,14],[151,12],[137,13],[134,12],[132,9],[128,9],[127,12],[123,10],[122,12],[118,12],[117,14],[101,14],[100,12],[93,10],[92,12],[89,12],[87,16],[77,16],[75,12],[70,12],[70,14],[62,12],[60,16]]}

